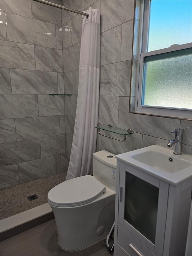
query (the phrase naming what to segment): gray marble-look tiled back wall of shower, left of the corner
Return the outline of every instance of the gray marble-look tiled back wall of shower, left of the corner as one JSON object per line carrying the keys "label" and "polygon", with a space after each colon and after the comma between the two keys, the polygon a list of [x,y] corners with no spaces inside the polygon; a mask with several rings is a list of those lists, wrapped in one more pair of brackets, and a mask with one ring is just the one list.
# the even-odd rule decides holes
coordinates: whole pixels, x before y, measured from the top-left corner
{"label": "gray marble-look tiled back wall of shower, left of the corner", "polygon": [[66,166],[64,96],[49,95],[64,93],[61,9],[29,0],[0,9],[2,189]]}

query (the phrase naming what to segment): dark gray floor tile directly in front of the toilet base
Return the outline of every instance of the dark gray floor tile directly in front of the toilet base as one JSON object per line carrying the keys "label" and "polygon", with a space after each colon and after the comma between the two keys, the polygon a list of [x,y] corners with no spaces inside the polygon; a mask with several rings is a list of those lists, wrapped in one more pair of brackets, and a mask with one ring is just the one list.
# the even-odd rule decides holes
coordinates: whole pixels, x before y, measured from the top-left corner
{"label": "dark gray floor tile directly in front of the toilet base", "polygon": [[[53,245],[35,256],[100,256],[107,251],[106,242],[103,240],[79,251],[63,251],[58,244]],[[106,254],[106,256],[108,256]],[[110,254],[111,256],[111,254]]]}

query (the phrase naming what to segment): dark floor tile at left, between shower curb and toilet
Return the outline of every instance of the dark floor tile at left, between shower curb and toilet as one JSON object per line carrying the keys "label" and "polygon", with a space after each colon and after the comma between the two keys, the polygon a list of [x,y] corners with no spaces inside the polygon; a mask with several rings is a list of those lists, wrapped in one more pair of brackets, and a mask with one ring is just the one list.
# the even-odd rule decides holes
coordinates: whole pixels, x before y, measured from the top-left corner
{"label": "dark floor tile at left, between shower curb and toilet", "polygon": [[57,231],[49,221],[1,242],[0,251],[1,256],[34,256],[56,243]]}

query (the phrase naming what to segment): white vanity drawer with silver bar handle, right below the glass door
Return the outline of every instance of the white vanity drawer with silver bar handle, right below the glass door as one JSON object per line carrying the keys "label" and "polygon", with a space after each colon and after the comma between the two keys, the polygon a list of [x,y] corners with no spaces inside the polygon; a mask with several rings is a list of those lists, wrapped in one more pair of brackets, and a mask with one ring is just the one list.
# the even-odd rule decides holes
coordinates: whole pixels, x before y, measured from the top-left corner
{"label": "white vanity drawer with silver bar handle, right below the glass door", "polygon": [[140,242],[120,223],[118,223],[117,242],[130,256],[139,255],[134,251],[134,249],[130,247],[130,245],[133,246],[142,256],[155,256],[152,251],[150,251],[142,242]]}

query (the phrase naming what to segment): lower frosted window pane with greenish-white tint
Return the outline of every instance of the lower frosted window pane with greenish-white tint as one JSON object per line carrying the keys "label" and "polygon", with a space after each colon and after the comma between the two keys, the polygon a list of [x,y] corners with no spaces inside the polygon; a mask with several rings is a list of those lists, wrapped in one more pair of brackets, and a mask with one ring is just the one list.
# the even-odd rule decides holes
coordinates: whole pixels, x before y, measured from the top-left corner
{"label": "lower frosted window pane with greenish-white tint", "polygon": [[191,48],[144,57],[141,105],[191,109]]}

